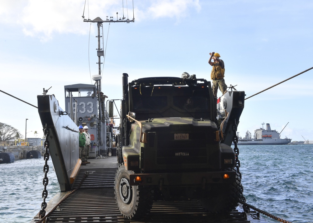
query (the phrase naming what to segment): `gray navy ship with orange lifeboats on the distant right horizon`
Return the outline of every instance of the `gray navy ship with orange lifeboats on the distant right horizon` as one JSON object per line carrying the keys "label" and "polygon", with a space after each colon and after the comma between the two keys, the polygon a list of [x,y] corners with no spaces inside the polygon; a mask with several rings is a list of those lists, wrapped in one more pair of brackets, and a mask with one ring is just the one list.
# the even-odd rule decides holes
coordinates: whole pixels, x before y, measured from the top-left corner
{"label": "gray navy ship with orange lifeboats on the distant right horizon", "polygon": [[249,131],[246,132],[244,138],[239,137],[238,145],[285,145],[291,142],[291,139],[287,137],[281,139],[280,133],[271,130],[269,123],[266,123],[266,129],[263,128],[263,125],[264,123],[262,123],[262,128],[254,130],[253,137]]}

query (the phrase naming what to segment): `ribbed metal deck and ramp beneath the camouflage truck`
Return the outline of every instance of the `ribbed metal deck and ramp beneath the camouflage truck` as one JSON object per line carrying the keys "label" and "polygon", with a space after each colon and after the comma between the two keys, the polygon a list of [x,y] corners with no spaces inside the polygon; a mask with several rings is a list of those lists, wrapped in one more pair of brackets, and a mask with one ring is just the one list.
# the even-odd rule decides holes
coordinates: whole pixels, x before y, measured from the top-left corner
{"label": "ribbed metal deck and ramp beneath the camouflage truck", "polygon": [[[73,189],[77,188],[81,179],[88,171],[89,175],[82,182],[80,188],[69,195],[56,210],[54,210],[47,223],[63,222],[267,222],[259,219],[256,214],[248,214],[242,210],[234,210],[227,215],[206,213],[198,201],[153,203],[150,215],[140,221],[124,218],[115,203],[114,177],[118,163],[116,157],[105,159],[89,159],[90,164],[81,166],[79,175],[74,182]],[[55,206],[66,193],[59,193],[48,206]],[[60,196],[61,195],[61,196]],[[49,207],[47,207],[48,209]],[[47,210],[47,213],[49,210]],[[36,216],[38,217],[38,216]],[[37,222],[34,219],[32,222]]]}

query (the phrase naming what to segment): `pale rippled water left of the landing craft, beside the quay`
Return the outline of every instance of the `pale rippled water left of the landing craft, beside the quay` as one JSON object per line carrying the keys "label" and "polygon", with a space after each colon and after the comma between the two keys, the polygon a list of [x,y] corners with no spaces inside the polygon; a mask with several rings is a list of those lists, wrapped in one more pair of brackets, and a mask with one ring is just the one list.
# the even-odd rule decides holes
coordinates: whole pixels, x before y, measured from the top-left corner
{"label": "pale rippled water left of the landing craft, beside the quay", "polygon": [[[0,222],[29,223],[41,210],[44,159],[23,159],[0,164]],[[51,158],[48,160],[48,203],[60,191]]]}

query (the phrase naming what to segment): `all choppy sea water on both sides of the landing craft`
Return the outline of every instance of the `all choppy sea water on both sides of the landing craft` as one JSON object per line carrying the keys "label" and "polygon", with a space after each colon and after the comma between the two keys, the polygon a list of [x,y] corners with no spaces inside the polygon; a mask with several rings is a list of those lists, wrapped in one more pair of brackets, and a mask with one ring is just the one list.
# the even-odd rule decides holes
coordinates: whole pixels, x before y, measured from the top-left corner
{"label": "all choppy sea water on both sides of the landing craft", "polygon": [[[293,223],[313,223],[313,145],[239,146],[239,160],[248,204]],[[46,202],[59,192],[48,163]],[[0,222],[29,223],[39,212],[43,166],[43,158],[0,165]]]}

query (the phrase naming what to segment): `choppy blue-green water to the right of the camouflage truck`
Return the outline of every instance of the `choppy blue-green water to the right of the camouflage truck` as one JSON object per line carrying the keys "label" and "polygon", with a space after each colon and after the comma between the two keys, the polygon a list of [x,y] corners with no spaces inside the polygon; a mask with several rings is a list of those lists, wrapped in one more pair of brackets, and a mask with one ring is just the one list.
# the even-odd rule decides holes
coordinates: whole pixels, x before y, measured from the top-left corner
{"label": "choppy blue-green water to the right of the camouflage truck", "polygon": [[313,222],[313,145],[239,146],[239,160],[248,204],[293,223]]}

